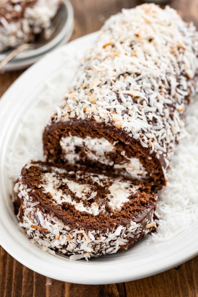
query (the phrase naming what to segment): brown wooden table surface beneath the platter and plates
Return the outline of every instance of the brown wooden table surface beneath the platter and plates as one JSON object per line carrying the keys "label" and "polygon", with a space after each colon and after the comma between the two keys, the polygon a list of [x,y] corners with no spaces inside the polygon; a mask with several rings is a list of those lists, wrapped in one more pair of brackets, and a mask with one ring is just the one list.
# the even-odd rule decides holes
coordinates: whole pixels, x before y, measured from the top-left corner
{"label": "brown wooden table surface beneath the platter and plates", "polygon": [[[98,30],[105,19],[141,4],[133,0],[71,0],[75,11],[72,39]],[[186,21],[193,20],[198,29],[198,1],[175,0]],[[0,95],[23,71],[0,75]],[[133,269],[133,268],[132,268]],[[119,273],[119,271],[118,271]],[[198,296],[198,256],[177,268],[145,279],[114,285],[75,285],[44,277],[26,268],[0,247],[0,297],[196,297]]]}

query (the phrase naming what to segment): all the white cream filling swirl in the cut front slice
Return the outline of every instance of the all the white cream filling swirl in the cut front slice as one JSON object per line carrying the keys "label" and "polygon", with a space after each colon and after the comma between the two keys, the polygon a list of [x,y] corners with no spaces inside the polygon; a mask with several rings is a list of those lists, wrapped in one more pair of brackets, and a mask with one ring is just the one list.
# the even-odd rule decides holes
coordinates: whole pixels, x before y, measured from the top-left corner
{"label": "all the white cream filling swirl in the cut front slice", "polygon": [[[105,176],[100,175],[101,178]],[[57,189],[61,183],[65,183],[70,191],[72,191],[77,198],[80,198],[80,202],[72,200],[69,194],[64,193],[61,189]],[[56,201],[54,203],[61,204],[62,202],[68,202],[72,204],[78,211],[86,211],[89,214],[94,214],[95,216],[100,212],[108,214],[105,206],[99,207],[96,202],[91,203],[90,206],[84,206],[84,200],[90,200],[96,197],[97,192],[92,192],[88,184],[79,184],[75,181],[69,180],[67,178],[60,181],[56,178],[56,173],[44,173],[40,184],[40,187],[44,189],[44,192],[49,192],[53,199]],[[114,211],[121,211],[124,203],[129,201],[129,196],[135,194],[140,188],[139,185],[132,185],[130,181],[121,181],[120,178],[114,180],[113,184],[109,186],[110,193],[107,194],[107,200],[109,200],[108,205]],[[90,193],[88,197],[88,193]]]}

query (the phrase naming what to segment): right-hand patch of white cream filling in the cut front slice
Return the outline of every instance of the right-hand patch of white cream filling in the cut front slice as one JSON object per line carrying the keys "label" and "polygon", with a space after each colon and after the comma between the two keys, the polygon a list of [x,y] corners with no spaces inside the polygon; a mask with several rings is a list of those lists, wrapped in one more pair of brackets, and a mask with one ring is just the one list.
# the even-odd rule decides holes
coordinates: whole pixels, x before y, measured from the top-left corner
{"label": "right-hand patch of white cream filling in the cut front slice", "polygon": [[140,188],[139,185],[133,186],[129,181],[123,182],[116,180],[110,187],[110,194],[107,195],[110,202],[109,206],[114,211],[121,211],[124,203],[128,202],[128,197],[131,194],[135,194],[137,190]]}

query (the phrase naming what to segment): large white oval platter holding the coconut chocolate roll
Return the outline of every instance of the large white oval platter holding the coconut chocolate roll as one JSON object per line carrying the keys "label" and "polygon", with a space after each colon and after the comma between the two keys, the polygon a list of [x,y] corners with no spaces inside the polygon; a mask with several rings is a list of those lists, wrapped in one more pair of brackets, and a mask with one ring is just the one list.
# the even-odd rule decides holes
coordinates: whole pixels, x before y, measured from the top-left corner
{"label": "large white oval platter holding the coconut chocolate roll", "polygon": [[[79,48],[84,52],[96,35],[94,33],[81,37],[45,56],[24,72],[0,100],[0,244],[28,268],[47,277],[80,284],[107,284],[140,279],[177,266],[198,254],[197,223],[169,241],[149,241],[146,244],[144,238],[125,252],[92,258],[88,262],[71,261],[66,256],[53,256],[42,251],[36,244],[31,244],[17,225],[9,199],[12,183],[8,178],[9,170],[5,160],[11,156],[8,156],[12,154],[9,153],[9,148],[14,148],[19,137],[22,116],[27,115],[32,105],[36,104],[36,98],[39,100],[39,93],[46,79],[54,81],[61,71],[67,72],[68,80],[74,75],[75,67],[69,64],[74,58],[68,56],[67,60],[63,59],[63,51],[72,53]],[[65,85],[67,83],[65,81]],[[57,89],[64,87],[61,79],[56,84]],[[34,138],[31,131],[30,136]]]}

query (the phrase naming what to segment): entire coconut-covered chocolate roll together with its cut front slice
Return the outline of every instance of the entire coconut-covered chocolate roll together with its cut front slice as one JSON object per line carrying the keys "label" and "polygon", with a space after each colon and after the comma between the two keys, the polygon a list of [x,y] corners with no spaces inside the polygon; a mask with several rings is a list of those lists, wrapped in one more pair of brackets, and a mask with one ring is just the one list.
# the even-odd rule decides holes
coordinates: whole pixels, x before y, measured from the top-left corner
{"label": "entire coconut-covered chocolate roll together with its cut front slice", "polygon": [[15,212],[33,242],[80,259],[128,249],[156,228],[196,90],[197,32],[143,4],[111,17],[45,127],[46,162],[23,167]]}

